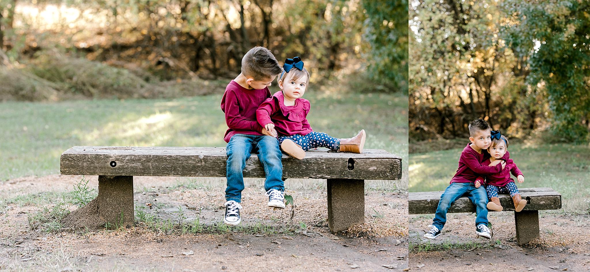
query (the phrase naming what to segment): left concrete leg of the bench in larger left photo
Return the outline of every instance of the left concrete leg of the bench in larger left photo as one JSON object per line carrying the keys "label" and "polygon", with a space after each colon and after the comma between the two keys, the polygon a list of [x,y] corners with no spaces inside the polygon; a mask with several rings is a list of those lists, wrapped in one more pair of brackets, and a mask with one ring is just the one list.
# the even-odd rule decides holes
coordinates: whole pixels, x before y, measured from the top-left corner
{"label": "left concrete leg of the bench in larger left photo", "polygon": [[99,176],[99,216],[107,227],[132,227],[133,176]]}

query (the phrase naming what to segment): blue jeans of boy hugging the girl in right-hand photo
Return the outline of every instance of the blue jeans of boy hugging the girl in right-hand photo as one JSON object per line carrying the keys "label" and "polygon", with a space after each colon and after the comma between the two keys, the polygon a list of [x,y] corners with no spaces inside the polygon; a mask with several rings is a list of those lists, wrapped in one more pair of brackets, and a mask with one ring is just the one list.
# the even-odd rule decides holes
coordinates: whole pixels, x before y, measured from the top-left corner
{"label": "blue jeans of boy hugging the girl in right-hand photo", "polygon": [[441,200],[438,202],[437,212],[432,221],[432,225],[435,225],[438,230],[442,230],[445,222],[447,222],[448,208],[461,196],[467,196],[476,205],[476,226],[479,224],[486,224],[487,226],[486,189],[483,186],[476,188],[473,182],[453,182],[442,193]]}

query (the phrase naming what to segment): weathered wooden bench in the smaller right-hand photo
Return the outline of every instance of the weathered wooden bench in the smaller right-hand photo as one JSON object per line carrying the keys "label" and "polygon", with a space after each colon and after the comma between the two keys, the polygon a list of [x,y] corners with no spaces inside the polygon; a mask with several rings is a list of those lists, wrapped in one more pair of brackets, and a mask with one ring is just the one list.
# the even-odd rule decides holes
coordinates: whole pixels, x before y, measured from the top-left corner
{"label": "weathered wooden bench in the smaller right-hand photo", "polygon": [[[526,206],[520,212],[514,212],[516,224],[516,242],[519,245],[539,238],[539,211],[543,209],[560,209],[561,194],[552,188],[522,188],[520,195],[526,199]],[[434,214],[437,211],[440,192],[414,192],[408,195],[409,214]],[[512,198],[507,194],[500,194],[500,204],[503,211],[514,211]],[[476,206],[463,196],[453,204],[448,212],[476,212]],[[451,227],[452,228],[452,227]]]}

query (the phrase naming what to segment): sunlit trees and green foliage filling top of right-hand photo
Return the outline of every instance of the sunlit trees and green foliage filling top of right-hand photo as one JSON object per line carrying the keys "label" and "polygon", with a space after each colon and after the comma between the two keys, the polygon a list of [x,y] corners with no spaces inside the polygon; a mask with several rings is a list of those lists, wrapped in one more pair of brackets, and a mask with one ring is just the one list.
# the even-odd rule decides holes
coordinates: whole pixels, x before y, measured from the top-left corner
{"label": "sunlit trees and green foliage filling top of right-hand photo", "polygon": [[525,138],[588,142],[590,2],[411,1],[410,139],[484,117]]}

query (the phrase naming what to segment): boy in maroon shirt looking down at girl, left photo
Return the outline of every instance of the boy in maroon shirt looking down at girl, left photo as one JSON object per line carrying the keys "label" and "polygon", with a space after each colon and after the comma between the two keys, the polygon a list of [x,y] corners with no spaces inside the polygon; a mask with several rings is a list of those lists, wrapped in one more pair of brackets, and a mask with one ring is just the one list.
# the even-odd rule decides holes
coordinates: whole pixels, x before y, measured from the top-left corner
{"label": "boy in maroon shirt looking down at girl, left photo", "polygon": [[238,225],[241,222],[241,192],[244,189],[242,171],[250,153],[258,154],[264,167],[264,190],[268,207],[285,208],[283,163],[278,148],[276,131],[268,131],[256,120],[258,106],[270,97],[268,86],[282,71],[273,53],[264,47],[254,47],[242,58],[242,72],[228,84],[221,99],[225,113],[227,142],[227,189],[225,189],[224,223]]}

